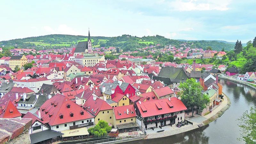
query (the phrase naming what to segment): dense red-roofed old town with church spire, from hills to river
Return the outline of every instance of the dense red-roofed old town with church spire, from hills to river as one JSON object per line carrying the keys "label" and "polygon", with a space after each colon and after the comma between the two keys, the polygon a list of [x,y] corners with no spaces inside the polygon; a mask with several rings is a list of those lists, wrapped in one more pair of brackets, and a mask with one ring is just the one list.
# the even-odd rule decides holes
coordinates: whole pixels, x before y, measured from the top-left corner
{"label": "dense red-roofed old town with church spire, from hills to river", "polygon": [[[213,58],[214,54],[221,58],[226,54],[190,48],[187,43],[181,48],[167,45],[139,51],[171,52],[174,59]],[[157,62],[152,55],[146,59],[130,55],[138,51],[120,50],[120,54],[115,47],[92,48],[90,33],[88,41],[74,48],[38,52],[15,48],[10,52],[12,57],[0,59],[0,118],[31,118],[31,143],[86,139],[90,137],[87,130],[100,120],[112,126],[114,137],[145,134],[152,128],[183,123],[192,115],[191,107],[177,96],[180,83],[187,79],[196,79],[210,99],[202,112],[195,108],[194,114],[201,116],[221,102],[220,74],[256,80],[255,72],[239,76],[237,68],[226,69],[225,65],[215,69],[212,64],[197,64],[196,60],[193,64]],[[37,55],[24,55],[29,52]],[[118,59],[105,60],[104,55],[110,53],[119,55]],[[24,65],[32,61],[32,68],[25,70]],[[19,70],[13,72],[17,66]],[[45,136],[38,138],[40,133]]]}

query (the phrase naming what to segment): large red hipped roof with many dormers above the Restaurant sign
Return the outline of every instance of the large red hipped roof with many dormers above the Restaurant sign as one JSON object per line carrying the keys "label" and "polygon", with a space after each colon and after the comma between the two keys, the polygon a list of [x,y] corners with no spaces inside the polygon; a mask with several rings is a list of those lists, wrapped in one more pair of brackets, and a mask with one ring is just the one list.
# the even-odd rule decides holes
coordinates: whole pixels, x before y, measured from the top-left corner
{"label": "large red hipped roof with many dormers above the Restaurant sign", "polygon": [[[68,108],[67,105],[70,105],[70,108]],[[43,119],[42,122],[44,124],[49,122],[49,125],[58,125],[93,118],[91,114],[61,94],[56,94],[51,99],[46,100],[40,107],[40,110]],[[81,115],[81,111],[84,112],[84,115]],[[47,113],[45,114],[45,112]],[[74,114],[73,117],[70,116],[71,112]],[[36,114],[38,115],[38,111]],[[50,117],[49,114],[52,114],[52,116]],[[63,119],[60,119],[61,115],[63,115]]]}

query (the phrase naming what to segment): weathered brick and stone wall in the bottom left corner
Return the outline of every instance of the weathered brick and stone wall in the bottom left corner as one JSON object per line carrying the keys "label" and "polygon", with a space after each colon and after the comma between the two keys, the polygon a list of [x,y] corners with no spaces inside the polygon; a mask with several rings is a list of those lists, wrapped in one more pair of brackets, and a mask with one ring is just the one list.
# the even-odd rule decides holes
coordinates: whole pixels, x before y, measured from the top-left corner
{"label": "weathered brick and stone wall in the bottom left corner", "polygon": [[30,144],[31,124],[29,118],[0,118],[0,143]]}

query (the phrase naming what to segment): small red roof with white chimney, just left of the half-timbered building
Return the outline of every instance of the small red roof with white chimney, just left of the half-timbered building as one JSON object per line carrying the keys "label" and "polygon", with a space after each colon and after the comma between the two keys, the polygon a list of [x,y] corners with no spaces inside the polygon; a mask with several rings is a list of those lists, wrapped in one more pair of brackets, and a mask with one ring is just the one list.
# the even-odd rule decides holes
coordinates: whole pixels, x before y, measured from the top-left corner
{"label": "small red roof with white chimney, just left of the half-timbered building", "polygon": [[[127,113],[128,111],[128,113]],[[114,115],[116,120],[136,117],[136,112],[133,105],[114,107]]]}

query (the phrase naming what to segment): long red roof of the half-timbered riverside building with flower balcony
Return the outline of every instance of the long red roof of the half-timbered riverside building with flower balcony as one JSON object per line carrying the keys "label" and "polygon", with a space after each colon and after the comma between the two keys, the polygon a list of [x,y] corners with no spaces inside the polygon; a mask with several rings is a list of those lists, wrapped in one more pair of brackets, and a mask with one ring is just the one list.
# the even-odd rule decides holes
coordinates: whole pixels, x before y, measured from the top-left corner
{"label": "long red roof of the half-timbered riverside building with flower balcony", "polygon": [[[159,110],[156,104],[160,105],[162,109]],[[141,104],[136,102],[136,105],[142,117],[163,115],[187,109],[186,106],[178,98],[170,98],[170,101],[169,99],[150,100],[141,102]],[[173,108],[170,108],[169,105],[173,105]]]}

